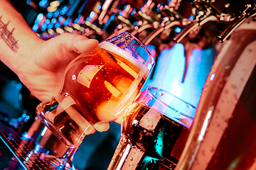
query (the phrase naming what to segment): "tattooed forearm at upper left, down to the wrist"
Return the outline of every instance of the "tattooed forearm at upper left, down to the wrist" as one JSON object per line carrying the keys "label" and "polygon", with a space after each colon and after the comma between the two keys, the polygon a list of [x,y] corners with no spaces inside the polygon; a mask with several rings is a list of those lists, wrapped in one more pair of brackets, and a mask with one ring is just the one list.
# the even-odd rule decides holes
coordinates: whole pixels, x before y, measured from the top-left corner
{"label": "tattooed forearm at upper left, down to the wrist", "polygon": [[9,0],[0,1],[0,60],[15,73],[28,60],[31,45],[42,41]]}

